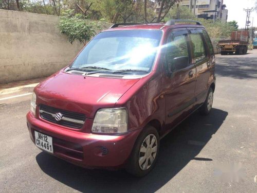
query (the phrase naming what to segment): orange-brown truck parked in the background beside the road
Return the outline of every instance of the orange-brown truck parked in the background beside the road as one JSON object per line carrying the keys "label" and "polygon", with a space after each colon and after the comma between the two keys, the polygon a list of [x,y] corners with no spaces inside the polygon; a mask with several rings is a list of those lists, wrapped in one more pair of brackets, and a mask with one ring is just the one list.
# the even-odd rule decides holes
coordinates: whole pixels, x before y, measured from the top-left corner
{"label": "orange-brown truck parked in the background beside the road", "polygon": [[221,48],[221,55],[233,54],[236,55],[246,54],[248,50],[248,31],[232,31],[231,39],[224,39],[218,42]]}

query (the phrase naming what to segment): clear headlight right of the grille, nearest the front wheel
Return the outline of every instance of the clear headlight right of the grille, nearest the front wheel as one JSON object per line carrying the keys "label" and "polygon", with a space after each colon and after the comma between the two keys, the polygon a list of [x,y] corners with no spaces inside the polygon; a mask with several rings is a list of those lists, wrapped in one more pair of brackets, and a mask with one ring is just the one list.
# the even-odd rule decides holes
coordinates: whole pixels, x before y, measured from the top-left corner
{"label": "clear headlight right of the grille, nearest the front wheel", "polygon": [[97,111],[92,132],[124,133],[127,131],[126,109],[100,109]]}

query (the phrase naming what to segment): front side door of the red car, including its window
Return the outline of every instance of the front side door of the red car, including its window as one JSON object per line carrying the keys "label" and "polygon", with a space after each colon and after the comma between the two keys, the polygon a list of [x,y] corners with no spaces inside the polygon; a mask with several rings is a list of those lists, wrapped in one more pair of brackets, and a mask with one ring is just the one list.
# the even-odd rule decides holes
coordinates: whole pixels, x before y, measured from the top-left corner
{"label": "front side door of the red car, including its window", "polygon": [[196,68],[188,30],[172,30],[166,44],[166,125],[177,125],[195,102]]}

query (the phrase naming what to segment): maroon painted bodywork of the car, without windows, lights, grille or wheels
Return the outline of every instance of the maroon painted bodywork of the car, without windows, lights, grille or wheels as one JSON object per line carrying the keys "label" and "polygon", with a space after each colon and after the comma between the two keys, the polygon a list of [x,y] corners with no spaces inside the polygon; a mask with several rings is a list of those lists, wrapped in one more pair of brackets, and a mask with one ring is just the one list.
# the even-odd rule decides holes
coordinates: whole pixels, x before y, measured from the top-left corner
{"label": "maroon painted bodywork of the car, without windows, lights, grille or wheels", "polygon": [[[117,27],[104,31],[161,29],[163,34],[160,45],[164,45],[170,31],[181,28],[204,29],[199,25],[150,24]],[[36,130],[54,137],[54,140],[61,140],[61,144],[66,143],[66,145],[56,144],[57,149],[65,146],[65,150],[71,149],[72,152],[74,146],[79,144],[81,149],[74,154],[62,150],[53,152],[61,159],[76,165],[92,168],[123,167],[138,135],[146,125],[155,127],[160,137],[163,137],[197,109],[199,104],[205,101],[209,87],[215,86],[215,60],[214,55],[210,56],[209,52],[207,63],[210,65],[195,66],[192,59],[191,65],[185,71],[175,74],[172,78],[167,76],[162,59],[161,50],[151,73],[138,79],[78,76],[65,73],[64,69],[52,75],[34,89],[37,96],[36,116],[31,112],[27,114],[31,140],[34,142],[34,130]],[[191,70],[193,76],[189,77],[188,72]],[[189,106],[170,116],[183,104],[187,104],[192,97],[195,99],[192,104],[189,103]],[[82,113],[86,116],[85,124],[81,129],[72,129],[48,122],[39,116],[39,104]],[[91,132],[97,110],[119,107],[125,107],[128,112],[127,133],[106,135]],[[108,149],[107,155],[102,155],[101,147]],[[81,157],[76,153],[81,154]]]}

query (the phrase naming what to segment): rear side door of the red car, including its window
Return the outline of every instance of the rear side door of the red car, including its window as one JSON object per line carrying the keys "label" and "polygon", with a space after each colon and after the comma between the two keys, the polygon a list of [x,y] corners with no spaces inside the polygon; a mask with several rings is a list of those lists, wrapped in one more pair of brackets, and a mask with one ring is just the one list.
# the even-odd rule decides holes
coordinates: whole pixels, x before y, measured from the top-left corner
{"label": "rear side door of the red car, including its window", "polygon": [[204,30],[189,28],[189,32],[193,60],[196,66],[195,106],[198,107],[205,101],[208,93],[212,58],[210,57],[208,45],[204,38]]}

